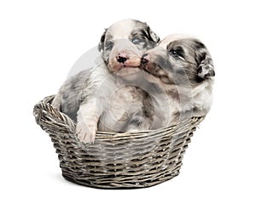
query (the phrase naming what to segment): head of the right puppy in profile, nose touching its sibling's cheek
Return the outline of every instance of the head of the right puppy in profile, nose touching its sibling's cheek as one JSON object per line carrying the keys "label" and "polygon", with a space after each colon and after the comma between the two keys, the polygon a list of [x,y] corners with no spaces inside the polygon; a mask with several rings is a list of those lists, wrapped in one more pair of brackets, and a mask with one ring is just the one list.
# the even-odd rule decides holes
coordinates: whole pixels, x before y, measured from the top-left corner
{"label": "head of the right puppy in profile, nose touching its sibling's cheek", "polygon": [[171,35],[143,55],[145,71],[160,78],[164,84],[190,86],[215,76],[212,58],[206,46],[194,37]]}

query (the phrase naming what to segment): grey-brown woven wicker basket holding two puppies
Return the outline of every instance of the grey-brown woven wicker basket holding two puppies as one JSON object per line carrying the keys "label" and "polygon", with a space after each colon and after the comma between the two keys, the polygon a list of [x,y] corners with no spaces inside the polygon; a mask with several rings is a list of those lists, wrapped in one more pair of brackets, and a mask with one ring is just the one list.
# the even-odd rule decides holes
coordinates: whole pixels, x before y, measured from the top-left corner
{"label": "grey-brown woven wicker basket holding two puppies", "polygon": [[33,114],[49,133],[63,177],[101,189],[144,188],[177,176],[190,138],[204,119],[193,117],[157,130],[97,132],[94,144],[83,144],[75,135],[76,124],[50,105],[54,97],[35,105]]}

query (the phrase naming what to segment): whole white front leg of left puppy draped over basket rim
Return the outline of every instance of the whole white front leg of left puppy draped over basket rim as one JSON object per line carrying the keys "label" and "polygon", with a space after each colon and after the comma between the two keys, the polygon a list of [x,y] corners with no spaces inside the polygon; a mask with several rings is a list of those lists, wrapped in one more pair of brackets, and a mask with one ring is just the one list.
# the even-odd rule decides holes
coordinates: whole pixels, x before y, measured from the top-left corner
{"label": "whole white front leg of left puppy draped over basket rim", "polygon": [[81,142],[93,143],[96,137],[99,116],[93,102],[80,105],[76,134]]}

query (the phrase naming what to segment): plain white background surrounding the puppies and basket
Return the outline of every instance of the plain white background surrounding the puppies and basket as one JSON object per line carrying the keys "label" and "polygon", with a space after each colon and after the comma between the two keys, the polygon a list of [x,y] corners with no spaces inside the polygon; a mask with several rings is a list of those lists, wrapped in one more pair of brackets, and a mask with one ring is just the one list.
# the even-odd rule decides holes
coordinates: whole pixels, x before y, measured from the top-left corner
{"label": "plain white background surrounding the puppies and basket", "polygon": [[[1,1],[1,197],[256,197],[256,42],[253,1]],[[163,38],[201,38],[216,67],[214,104],[189,144],[181,173],[142,190],[67,182],[32,107],[56,93],[103,29],[133,18]],[[253,29],[254,28],[254,29]]]}

